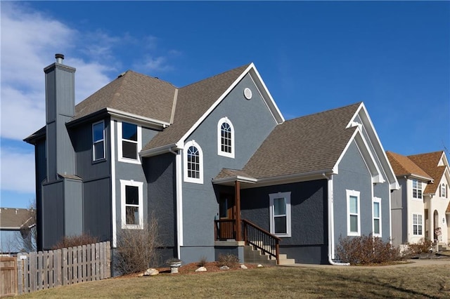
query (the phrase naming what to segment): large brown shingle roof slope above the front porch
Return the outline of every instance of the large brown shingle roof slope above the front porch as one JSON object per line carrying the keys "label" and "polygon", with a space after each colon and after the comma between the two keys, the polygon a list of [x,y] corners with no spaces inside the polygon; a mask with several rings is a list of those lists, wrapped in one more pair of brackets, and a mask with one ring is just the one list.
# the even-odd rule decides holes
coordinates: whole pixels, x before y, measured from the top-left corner
{"label": "large brown shingle roof slope above the front porch", "polygon": [[361,102],[276,126],[243,168],[255,178],[330,170],[356,128],[346,128]]}

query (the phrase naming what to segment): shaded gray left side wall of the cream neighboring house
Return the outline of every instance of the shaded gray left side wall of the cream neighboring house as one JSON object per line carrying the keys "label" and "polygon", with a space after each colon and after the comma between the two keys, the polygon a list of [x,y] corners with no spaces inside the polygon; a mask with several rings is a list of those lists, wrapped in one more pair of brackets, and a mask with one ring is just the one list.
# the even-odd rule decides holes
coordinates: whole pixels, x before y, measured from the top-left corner
{"label": "shaded gray left side wall of the cream neighboring house", "polygon": [[408,242],[408,209],[406,204],[406,180],[397,178],[400,189],[391,194],[392,245]]}

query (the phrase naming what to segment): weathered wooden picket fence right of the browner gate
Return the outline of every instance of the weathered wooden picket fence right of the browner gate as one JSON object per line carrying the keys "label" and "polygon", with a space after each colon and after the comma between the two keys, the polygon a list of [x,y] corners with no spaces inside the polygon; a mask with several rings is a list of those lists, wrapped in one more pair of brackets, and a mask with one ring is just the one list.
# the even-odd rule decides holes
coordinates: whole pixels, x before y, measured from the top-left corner
{"label": "weathered wooden picket fence right of the browner gate", "polygon": [[110,242],[20,254],[18,293],[111,277]]}

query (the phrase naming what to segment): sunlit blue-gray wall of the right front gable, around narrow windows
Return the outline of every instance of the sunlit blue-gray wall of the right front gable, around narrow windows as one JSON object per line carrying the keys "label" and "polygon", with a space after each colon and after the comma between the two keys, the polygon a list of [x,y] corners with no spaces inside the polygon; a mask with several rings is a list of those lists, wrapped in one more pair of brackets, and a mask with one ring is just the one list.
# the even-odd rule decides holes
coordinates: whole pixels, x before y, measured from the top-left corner
{"label": "sunlit blue-gray wall of the right front gable, around narrow windows", "polygon": [[[359,191],[360,202],[360,234],[368,235],[373,232],[373,217],[372,217],[372,199],[373,199],[373,185],[371,174],[361,157],[358,147],[355,142],[349,146],[344,157],[339,164],[339,174],[333,176],[333,213],[334,213],[334,239],[335,245],[339,244],[339,239],[347,237],[349,230],[347,225],[347,191]],[[388,199],[382,199],[382,209],[389,206]],[[389,213],[382,211],[382,225],[383,239],[390,237],[389,231],[385,231],[385,223],[389,223]]]}

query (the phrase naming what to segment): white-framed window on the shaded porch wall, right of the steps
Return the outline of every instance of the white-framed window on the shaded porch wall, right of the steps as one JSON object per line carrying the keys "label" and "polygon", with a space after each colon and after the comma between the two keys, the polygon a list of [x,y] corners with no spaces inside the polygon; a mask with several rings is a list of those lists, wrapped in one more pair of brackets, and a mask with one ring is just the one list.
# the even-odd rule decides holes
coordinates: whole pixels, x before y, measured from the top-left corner
{"label": "white-framed window on the shaded porch wall, right of the steps", "polygon": [[270,232],[278,237],[291,237],[290,192],[269,194]]}

